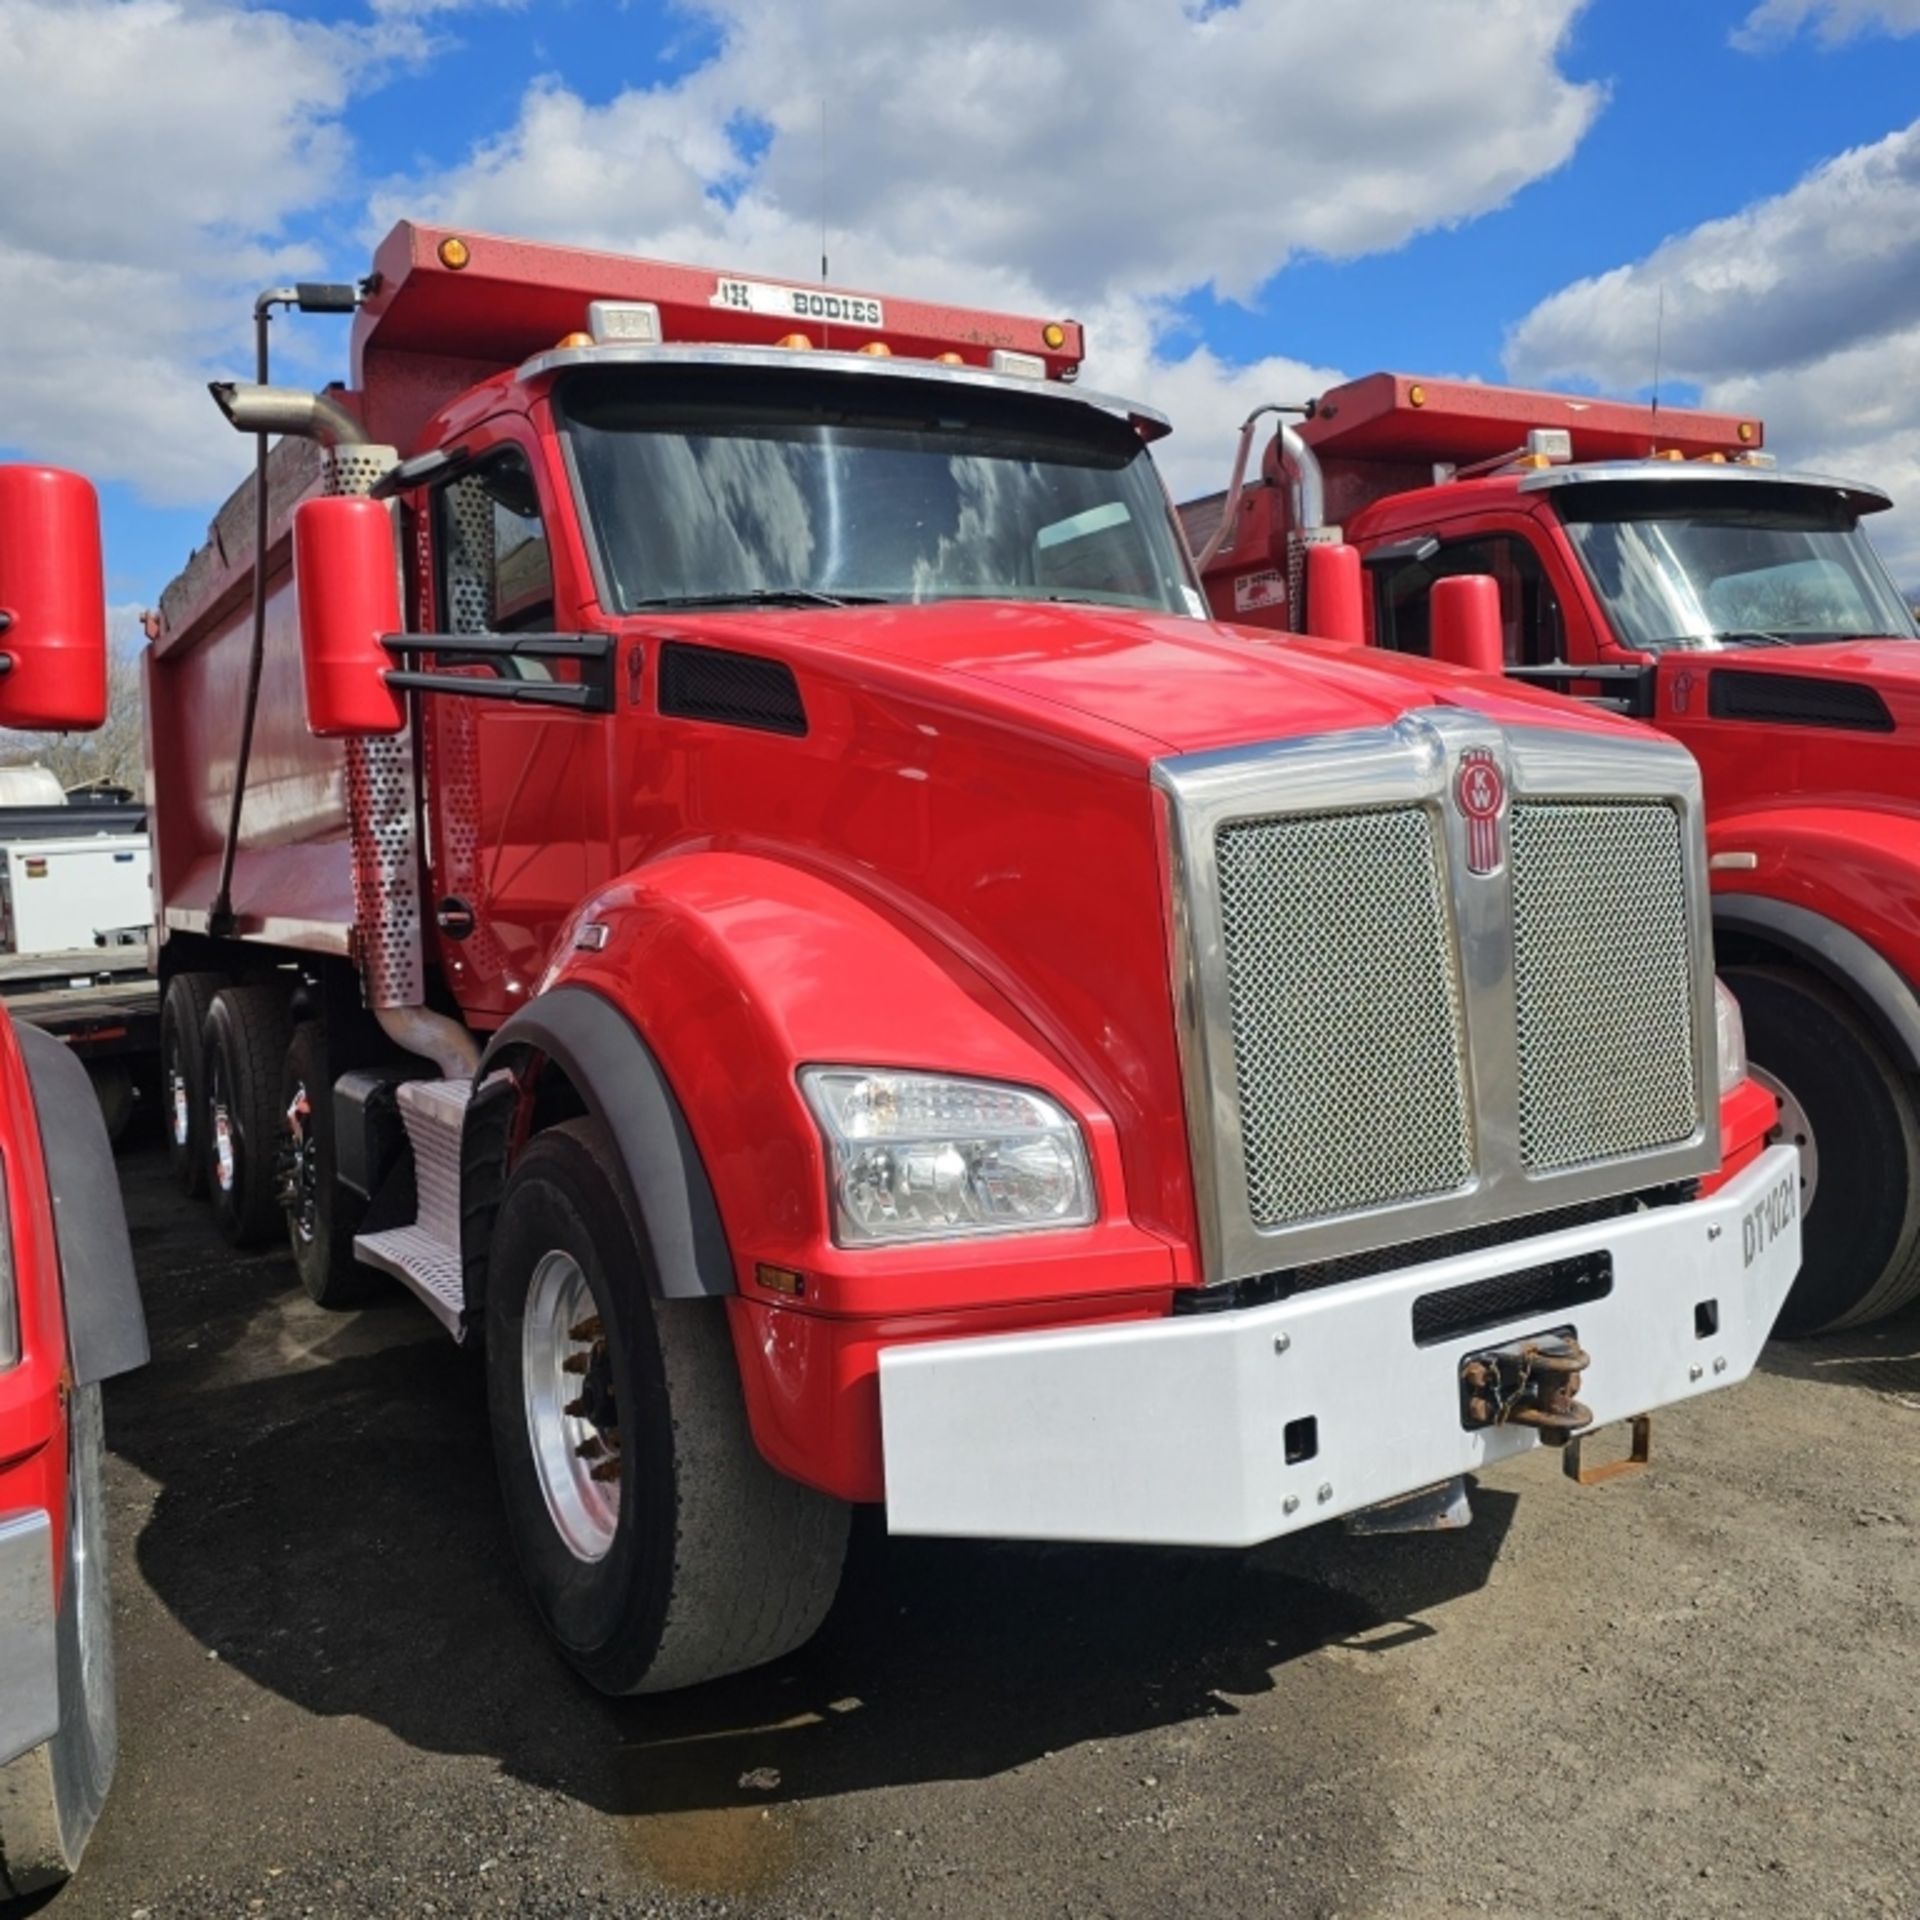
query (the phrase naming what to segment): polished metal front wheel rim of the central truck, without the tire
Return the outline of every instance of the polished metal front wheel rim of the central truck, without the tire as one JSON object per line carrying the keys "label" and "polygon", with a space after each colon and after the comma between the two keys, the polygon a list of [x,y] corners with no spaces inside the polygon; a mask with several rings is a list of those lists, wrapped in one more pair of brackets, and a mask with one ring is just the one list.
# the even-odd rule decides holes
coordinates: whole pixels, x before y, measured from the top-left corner
{"label": "polished metal front wheel rim of the central truck, without the tire", "polygon": [[520,1384],[553,1528],[574,1559],[603,1559],[620,1524],[612,1367],[588,1277],[559,1248],[541,1256],[526,1288]]}

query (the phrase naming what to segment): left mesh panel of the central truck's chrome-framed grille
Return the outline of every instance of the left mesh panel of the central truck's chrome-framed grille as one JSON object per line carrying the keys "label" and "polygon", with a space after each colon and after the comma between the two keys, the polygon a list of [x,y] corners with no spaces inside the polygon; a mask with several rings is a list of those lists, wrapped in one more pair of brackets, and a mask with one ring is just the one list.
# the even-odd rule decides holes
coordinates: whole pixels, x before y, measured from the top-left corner
{"label": "left mesh panel of the central truck's chrome-framed grille", "polygon": [[1236,820],[1215,858],[1256,1225],[1459,1187],[1473,1135],[1428,816]]}

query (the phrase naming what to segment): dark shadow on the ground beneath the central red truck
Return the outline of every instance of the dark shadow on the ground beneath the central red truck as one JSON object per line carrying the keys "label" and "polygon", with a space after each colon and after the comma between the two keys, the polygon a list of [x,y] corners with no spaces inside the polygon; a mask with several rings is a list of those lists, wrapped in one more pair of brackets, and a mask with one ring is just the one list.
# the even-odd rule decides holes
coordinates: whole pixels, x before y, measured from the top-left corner
{"label": "dark shadow on the ground beneath the central red truck", "polygon": [[[282,1260],[232,1260],[142,1156],[123,1169],[154,1365],[109,1444],[157,1484],[140,1576],[221,1661],[315,1715],[492,1755],[605,1812],[758,1809],[985,1778],[1233,1715],[1292,1659],[1382,1651],[1482,1586],[1513,1496],[1457,1534],[1256,1553],[889,1540],[862,1515],[816,1642],[659,1701],[603,1701],[513,1567],[480,1369],[411,1302],[328,1317]],[[125,1567],[123,1559],[123,1567]]]}

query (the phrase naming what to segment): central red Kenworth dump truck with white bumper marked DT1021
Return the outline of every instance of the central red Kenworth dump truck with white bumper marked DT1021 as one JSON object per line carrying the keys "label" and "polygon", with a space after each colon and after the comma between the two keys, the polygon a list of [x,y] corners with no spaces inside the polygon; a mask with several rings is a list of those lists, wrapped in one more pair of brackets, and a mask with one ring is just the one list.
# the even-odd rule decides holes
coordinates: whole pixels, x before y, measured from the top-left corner
{"label": "central red Kenworth dump truck with white bumper marked DT1021", "polygon": [[1751,1369],[1676,747],[1204,618],[1071,321],[417,225],[282,301],[351,378],[215,390],[146,659],[177,1165],[484,1342],[595,1686],[803,1642],[856,1501],[1459,1517]]}

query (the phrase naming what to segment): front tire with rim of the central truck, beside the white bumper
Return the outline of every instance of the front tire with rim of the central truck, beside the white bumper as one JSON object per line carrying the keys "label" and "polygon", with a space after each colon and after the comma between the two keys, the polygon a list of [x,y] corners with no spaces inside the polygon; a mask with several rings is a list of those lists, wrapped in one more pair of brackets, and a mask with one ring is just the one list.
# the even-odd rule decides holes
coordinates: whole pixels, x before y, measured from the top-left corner
{"label": "front tire with rim of the central truck, beside the white bumper", "polygon": [[655,1298],[614,1167],[586,1119],[522,1154],[488,1269],[488,1402],[547,1630],[603,1693],[662,1693],[814,1634],[847,1505],[760,1457],[724,1304]]}

